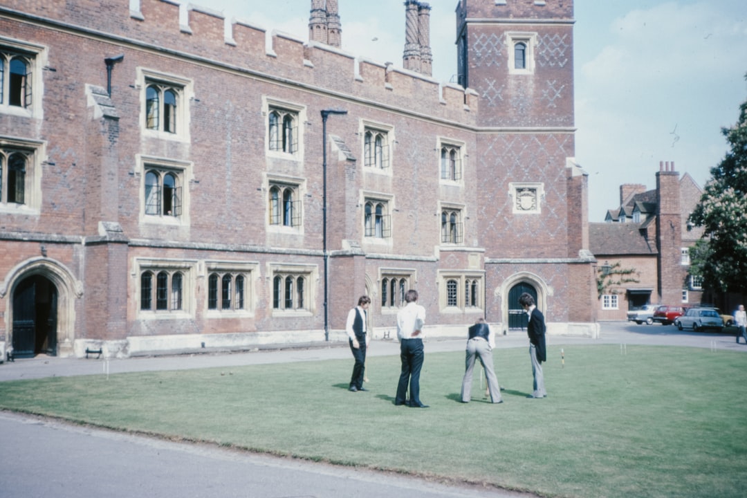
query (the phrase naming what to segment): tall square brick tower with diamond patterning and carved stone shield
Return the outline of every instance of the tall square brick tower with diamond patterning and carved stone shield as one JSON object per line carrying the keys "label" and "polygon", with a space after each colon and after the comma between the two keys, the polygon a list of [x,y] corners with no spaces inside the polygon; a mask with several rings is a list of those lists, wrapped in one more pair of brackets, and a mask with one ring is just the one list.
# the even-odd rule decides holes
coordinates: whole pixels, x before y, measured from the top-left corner
{"label": "tall square brick tower with diamond patterning and carved stone shield", "polygon": [[486,273],[503,317],[518,311],[509,293],[527,286],[549,321],[592,319],[588,177],[574,161],[573,24],[570,0],[456,7],[459,84],[477,93],[483,130],[469,167],[481,181]]}

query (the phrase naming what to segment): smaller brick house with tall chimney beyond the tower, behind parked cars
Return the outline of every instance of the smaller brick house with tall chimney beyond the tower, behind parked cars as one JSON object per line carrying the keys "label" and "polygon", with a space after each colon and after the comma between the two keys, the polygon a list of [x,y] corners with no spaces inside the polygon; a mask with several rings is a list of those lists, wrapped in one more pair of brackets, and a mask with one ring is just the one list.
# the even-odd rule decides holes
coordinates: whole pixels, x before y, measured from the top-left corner
{"label": "smaller brick house with tall chimney beyond the tower, behind parked cars", "polygon": [[[604,223],[589,223],[589,246],[603,267],[634,270],[624,281],[603,290],[598,300],[600,320],[625,320],[629,308],[645,304],[698,305],[703,289],[689,274],[689,248],[703,228],[688,224],[703,191],[674,162],[662,161],[656,188],[620,186],[619,208],[607,211]],[[615,271],[615,270],[613,270]]]}

